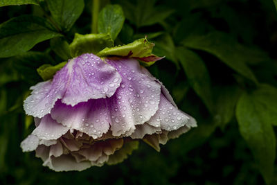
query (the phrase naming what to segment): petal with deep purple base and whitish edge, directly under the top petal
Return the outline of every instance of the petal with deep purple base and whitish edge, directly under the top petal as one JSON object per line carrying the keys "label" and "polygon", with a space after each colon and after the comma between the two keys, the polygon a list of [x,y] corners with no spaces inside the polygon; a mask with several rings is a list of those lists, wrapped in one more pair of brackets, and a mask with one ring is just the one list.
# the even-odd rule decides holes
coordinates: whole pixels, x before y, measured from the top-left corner
{"label": "petal with deep purple base and whitish edge, directly under the top petal", "polygon": [[51,116],[58,123],[79,130],[97,139],[109,130],[109,109],[106,99],[89,100],[74,107],[57,101]]}

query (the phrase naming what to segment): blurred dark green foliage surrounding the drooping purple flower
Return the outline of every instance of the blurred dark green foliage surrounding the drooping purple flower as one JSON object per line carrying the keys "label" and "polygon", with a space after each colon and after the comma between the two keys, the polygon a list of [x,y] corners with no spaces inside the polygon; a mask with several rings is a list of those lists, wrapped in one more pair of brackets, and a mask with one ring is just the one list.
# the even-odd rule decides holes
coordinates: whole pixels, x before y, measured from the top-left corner
{"label": "blurred dark green foliage surrounding the drooping purple flower", "polygon": [[[75,33],[91,33],[95,3],[4,0],[0,184],[277,184],[276,1],[114,0],[98,6],[109,3],[119,6],[108,6],[112,11],[103,10],[92,24],[115,45],[147,35],[156,44],[153,53],[166,56],[148,69],[198,127],[161,152],[141,142],[116,166],[69,173],[43,167],[19,148],[35,127],[22,103],[29,87],[42,81],[37,68],[68,60]],[[15,4],[22,6],[9,6]]]}

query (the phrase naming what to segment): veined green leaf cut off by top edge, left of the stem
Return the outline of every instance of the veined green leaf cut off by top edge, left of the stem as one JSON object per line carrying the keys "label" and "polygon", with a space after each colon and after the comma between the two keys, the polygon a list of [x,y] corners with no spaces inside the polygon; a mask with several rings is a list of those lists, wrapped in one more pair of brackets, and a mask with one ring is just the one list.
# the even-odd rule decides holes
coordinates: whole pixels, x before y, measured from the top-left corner
{"label": "veined green leaf cut off by top edge, left of the stem", "polygon": [[63,31],[68,31],[82,14],[84,0],[46,0],[55,22]]}

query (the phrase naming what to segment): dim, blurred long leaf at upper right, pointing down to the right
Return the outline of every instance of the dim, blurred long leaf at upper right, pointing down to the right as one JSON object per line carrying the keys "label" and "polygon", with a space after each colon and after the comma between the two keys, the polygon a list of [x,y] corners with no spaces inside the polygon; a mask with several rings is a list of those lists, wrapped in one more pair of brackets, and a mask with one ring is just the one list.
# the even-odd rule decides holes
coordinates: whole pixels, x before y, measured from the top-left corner
{"label": "dim, blurred long leaf at upper right, pointing down to the right", "polygon": [[258,83],[251,69],[247,67],[247,62],[251,61],[252,58],[256,60],[256,53],[235,42],[229,35],[220,32],[212,32],[208,35],[192,35],[182,43],[192,49],[212,53],[242,76]]}

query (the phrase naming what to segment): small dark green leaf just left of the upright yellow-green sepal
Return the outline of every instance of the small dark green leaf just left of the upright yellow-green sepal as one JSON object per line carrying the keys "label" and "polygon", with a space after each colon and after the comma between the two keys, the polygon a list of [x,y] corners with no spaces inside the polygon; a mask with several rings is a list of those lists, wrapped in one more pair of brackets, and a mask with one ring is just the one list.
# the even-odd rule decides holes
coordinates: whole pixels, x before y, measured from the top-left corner
{"label": "small dark green leaf just left of the upright yellow-green sepal", "polygon": [[51,49],[58,55],[62,60],[69,60],[71,57],[69,43],[66,42],[62,37],[55,37],[50,40]]}

